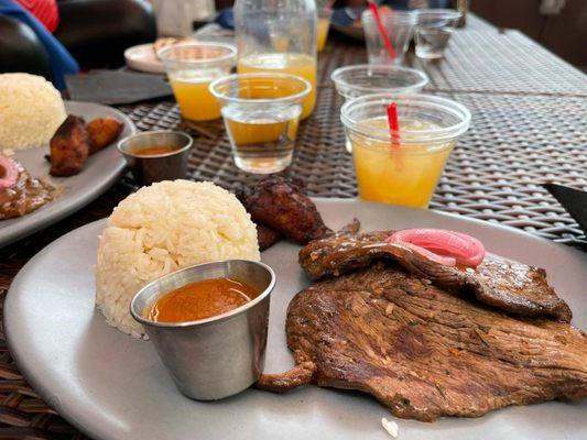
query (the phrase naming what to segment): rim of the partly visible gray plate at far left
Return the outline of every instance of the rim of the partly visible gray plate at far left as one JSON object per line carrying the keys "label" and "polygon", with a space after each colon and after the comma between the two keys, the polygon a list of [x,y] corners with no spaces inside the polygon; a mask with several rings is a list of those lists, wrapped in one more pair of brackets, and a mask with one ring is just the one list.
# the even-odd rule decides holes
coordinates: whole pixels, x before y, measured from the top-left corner
{"label": "rim of the partly visible gray plate at far left", "polygon": [[[108,109],[109,112],[113,112],[117,117],[122,119],[122,121],[124,122],[124,125],[129,128],[130,134],[135,134],[138,132],[137,125],[134,124],[132,119],[128,114],[126,114],[124,112],[122,112],[121,110],[115,107],[106,106],[106,105],[98,103],[98,102],[88,102],[88,101],[65,100],[64,102],[66,106],[67,103],[72,103],[74,106],[84,105],[84,106],[93,106],[95,108]],[[79,200],[77,200],[76,202],[63,206],[61,209],[58,209],[53,215],[42,216],[34,221],[33,220],[26,221],[24,226],[22,226],[22,223],[19,224],[19,222],[8,226],[7,228],[13,229],[14,231],[9,232],[7,237],[3,237],[2,234],[0,234],[0,249],[6,248],[9,244],[12,244],[21,239],[24,239],[35,232],[39,232],[50,227],[51,224],[54,224],[63,220],[64,218],[70,216],[72,213],[77,212],[78,210],[80,210],[81,208],[90,204],[91,201],[96,200],[99,196],[106,193],[120,178],[120,176],[122,176],[126,167],[127,167],[127,162],[124,161],[124,157],[122,157],[121,155],[112,173],[108,175],[107,178],[100,180],[100,183],[98,183],[96,186],[93,186],[87,193],[85,193],[84,197],[80,197]],[[63,200],[63,197],[64,196],[62,196],[61,200]],[[55,202],[61,201],[61,200],[55,200]],[[33,215],[34,212],[35,211],[30,212],[30,215]],[[20,217],[19,219],[26,220],[28,219],[26,216]],[[11,220],[11,219],[8,219],[8,220]],[[0,222],[0,232],[2,232],[2,229],[3,228],[1,228],[1,222]]]}

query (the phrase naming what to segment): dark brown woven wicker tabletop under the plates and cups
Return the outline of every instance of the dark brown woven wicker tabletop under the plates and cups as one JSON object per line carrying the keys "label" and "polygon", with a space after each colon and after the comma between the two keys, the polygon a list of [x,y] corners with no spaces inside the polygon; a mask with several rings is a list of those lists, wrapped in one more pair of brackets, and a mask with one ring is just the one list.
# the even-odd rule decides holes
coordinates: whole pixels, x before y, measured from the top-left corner
{"label": "dark brown woven wicker tabletop under the plates and cups", "polygon": [[[311,196],[357,196],[350,155],[339,121],[341,99],[329,80],[341,65],[366,62],[362,43],[333,35],[319,55],[318,102],[300,128],[287,174],[305,182]],[[581,245],[583,233],[541,184],[587,189],[587,79],[518,31],[500,31],[469,18],[456,32],[445,59],[406,64],[427,73],[426,92],[450,97],[472,113],[431,204],[432,209],[521,228]],[[235,188],[252,179],[232,164],[220,123],[182,124],[171,101],[121,108],[140,130],[182,127],[194,135],[189,176]],[[46,244],[107,217],[135,189],[124,177],[98,200],[46,230],[0,250],[0,312],[17,272]],[[0,328],[0,438],[84,439],[48,408],[12,362]]]}

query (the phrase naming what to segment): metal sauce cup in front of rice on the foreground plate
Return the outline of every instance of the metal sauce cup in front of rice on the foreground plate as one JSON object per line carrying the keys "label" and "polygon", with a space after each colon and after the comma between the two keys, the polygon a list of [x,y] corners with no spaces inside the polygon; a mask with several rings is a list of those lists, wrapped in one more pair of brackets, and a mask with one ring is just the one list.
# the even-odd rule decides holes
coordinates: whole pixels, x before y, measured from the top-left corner
{"label": "metal sauce cup in front of rice on the foreground plate", "polygon": [[[228,277],[261,292],[227,314],[193,322],[154,322],[145,311],[170,290],[200,279]],[[226,260],[187,267],[155,279],[132,299],[130,312],[144,326],[177,388],[197,400],[217,400],[247,389],[264,367],[270,295],[275,274],[267,264]]]}

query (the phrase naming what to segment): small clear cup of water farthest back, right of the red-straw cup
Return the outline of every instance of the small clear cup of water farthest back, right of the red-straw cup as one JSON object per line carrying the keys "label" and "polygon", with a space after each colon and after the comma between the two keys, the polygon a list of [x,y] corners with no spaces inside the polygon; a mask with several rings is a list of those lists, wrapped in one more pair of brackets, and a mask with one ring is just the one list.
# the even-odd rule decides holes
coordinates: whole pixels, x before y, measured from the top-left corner
{"label": "small clear cup of water farthest back, right of the red-straw cup", "polygon": [[416,56],[425,59],[442,58],[463,14],[452,9],[418,9],[416,14]]}

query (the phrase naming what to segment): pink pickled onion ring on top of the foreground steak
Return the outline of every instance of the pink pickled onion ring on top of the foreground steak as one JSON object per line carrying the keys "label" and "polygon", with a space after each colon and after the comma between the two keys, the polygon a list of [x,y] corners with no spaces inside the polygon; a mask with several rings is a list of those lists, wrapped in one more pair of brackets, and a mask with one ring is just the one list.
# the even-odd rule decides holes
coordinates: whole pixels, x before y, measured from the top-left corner
{"label": "pink pickled onion ring on top of the foreground steak", "polygon": [[400,244],[437,263],[477,267],[483,262],[485,246],[474,237],[443,229],[404,229],[391,234],[389,243]]}

